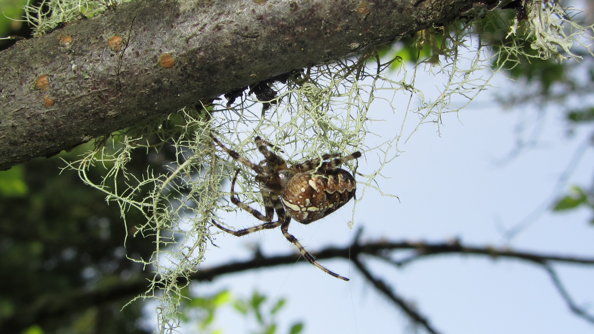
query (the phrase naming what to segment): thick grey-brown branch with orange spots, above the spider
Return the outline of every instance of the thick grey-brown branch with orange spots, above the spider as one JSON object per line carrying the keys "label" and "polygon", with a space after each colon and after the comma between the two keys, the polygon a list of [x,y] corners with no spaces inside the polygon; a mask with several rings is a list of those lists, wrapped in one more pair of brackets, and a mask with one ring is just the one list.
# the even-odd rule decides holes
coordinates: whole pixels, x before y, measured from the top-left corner
{"label": "thick grey-brown branch with orange spots, above the spider", "polygon": [[475,2],[138,0],[121,5],[0,53],[0,170],[438,25]]}

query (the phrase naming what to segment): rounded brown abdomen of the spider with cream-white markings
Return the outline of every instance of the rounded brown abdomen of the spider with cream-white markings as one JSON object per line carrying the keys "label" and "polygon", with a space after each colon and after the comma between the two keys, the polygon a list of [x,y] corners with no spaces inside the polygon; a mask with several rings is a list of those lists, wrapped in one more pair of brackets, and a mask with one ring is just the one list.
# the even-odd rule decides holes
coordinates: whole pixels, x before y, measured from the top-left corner
{"label": "rounded brown abdomen of the spider with cream-white markings", "polygon": [[298,173],[283,191],[283,206],[291,218],[308,224],[345,205],[355,189],[355,179],[344,169]]}

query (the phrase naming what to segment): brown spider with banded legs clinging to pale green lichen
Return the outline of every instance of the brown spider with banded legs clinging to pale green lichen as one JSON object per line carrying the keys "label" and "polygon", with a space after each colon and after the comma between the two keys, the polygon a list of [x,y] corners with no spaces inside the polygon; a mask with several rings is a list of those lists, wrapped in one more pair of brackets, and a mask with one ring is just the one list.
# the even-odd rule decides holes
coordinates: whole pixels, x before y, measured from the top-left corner
{"label": "brown spider with banded legs clinging to pale green lichen", "polygon": [[[259,165],[228,149],[217,138],[213,137],[214,142],[222,147],[233,159],[239,160],[239,162],[256,172],[255,181],[260,184],[260,193],[264,201],[266,215],[262,215],[258,210],[243,203],[235,196],[235,182],[237,181],[239,169],[235,172],[235,177],[231,182],[231,202],[264,223],[251,228],[240,229],[239,231],[225,228],[213,220],[214,225],[236,237],[280,226],[285,238],[299,248],[301,254],[311,264],[334,277],[349,281],[348,278],[331,272],[318,263],[305,250],[299,240],[289,234],[288,230],[291,218],[302,224],[309,224],[330,215],[355,196],[355,179],[349,172],[337,168],[337,166],[348,160],[361,157],[361,152],[355,152],[345,157],[340,157],[338,154],[323,155],[322,160],[315,158],[287,167],[287,163],[282,157],[268,149],[267,146],[272,146],[270,143],[260,137],[254,139],[258,150],[266,158]],[[275,210],[278,220],[273,222]]]}

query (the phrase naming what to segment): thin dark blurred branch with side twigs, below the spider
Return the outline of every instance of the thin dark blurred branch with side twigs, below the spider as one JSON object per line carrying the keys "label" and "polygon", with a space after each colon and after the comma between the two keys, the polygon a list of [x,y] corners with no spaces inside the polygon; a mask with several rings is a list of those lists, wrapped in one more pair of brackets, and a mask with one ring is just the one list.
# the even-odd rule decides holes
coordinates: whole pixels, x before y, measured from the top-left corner
{"label": "thin dark blurred branch with side twigs, below the spider", "polygon": [[[390,259],[390,254],[393,251],[413,251],[415,254],[409,256],[404,261],[394,261]],[[327,247],[321,251],[312,252],[311,253],[314,257],[318,260],[327,260],[327,259],[345,259],[350,260],[355,263],[361,273],[365,276],[365,273],[368,273],[369,278],[366,277],[372,284],[374,284],[375,288],[378,289],[382,294],[385,294],[386,297],[390,300],[393,300],[390,297],[390,294],[387,294],[381,286],[386,287],[389,291],[391,291],[391,295],[393,295],[396,299],[402,300],[403,304],[396,303],[397,306],[401,307],[402,310],[407,314],[413,322],[422,324],[422,321],[419,319],[425,319],[419,313],[417,313],[412,308],[406,308],[406,303],[404,299],[396,294],[394,294],[393,289],[391,289],[387,283],[381,281],[380,279],[375,278],[369,270],[366,269],[364,265],[364,260],[362,259],[362,255],[368,256],[375,256],[379,257],[380,259],[388,260],[392,264],[396,264],[397,266],[403,266],[407,263],[411,263],[414,260],[421,260],[425,259],[426,257],[436,256],[438,254],[446,255],[474,255],[474,256],[481,256],[481,257],[488,257],[491,259],[514,259],[514,260],[522,260],[528,261],[529,263],[537,264],[539,267],[544,268],[555,284],[555,287],[560,291],[562,297],[569,305],[571,311],[573,311],[577,316],[583,317],[584,319],[591,321],[593,317],[590,314],[587,314],[582,308],[577,307],[574,301],[571,299],[570,295],[567,294],[567,291],[563,288],[560,279],[556,275],[555,272],[552,272],[552,263],[573,263],[573,264],[585,264],[585,265],[594,265],[594,258],[592,257],[574,257],[574,256],[559,256],[554,254],[538,254],[538,253],[530,253],[530,252],[520,252],[520,251],[513,251],[506,248],[494,248],[494,247],[469,247],[462,245],[459,241],[454,242],[389,242],[389,241],[379,241],[379,242],[359,242],[358,238],[353,241],[353,244],[348,245],[347,247],[336,248],[336,247]],[[252,270],[252,269],[261,269],[266,267],[274,267],[280,266],[284,264],[295,264],[298,261],[302,261],[302,263],[308,263],[304,259],[302,259],[301,254],[295,253],[286,256],[264,256],[260,252],[257,252],[254,255],[254,258],[248,261],[233,261],[227,264],[222,264],[220,266],[215,266],[211,268],[199,269],[197,272],[192,273],[189,278],[192,281],[212,281],[213,279],[226,275],[229,273],[238,273],[244,272],[245,270]],[[362,267],[359,267],[357,263],[361,264]],[[148,276],[147,276],[148,277]],[[146,292],[147,287],[149,286],[149,278],[137,278],[131,279],[128,281],[119,281],[114,282],[112,285],[102,286],[93,291],[89,291],[87,289],[81,289],[81,291],[72,292],[69,295],[45,295],[38,300],[31,303],[30,307],[27,310],[18,310],[10,319],[5,319],[2,323],[0,323],[0,331],[6,333],[12,332],[21,332],[22,329],[30,326],[31,324],[43,322],[44,319],[48,319],[50,317],[60,316],[61,314],[67,314],[69,312],[75,310],[84,310],[87,307],[93,305],[100,305],[103,303],[110,303],[117,300],[129,300],[137,295]],[[179,278],[179,283],[185,284],[187,280],[185,278]],[[378,285],[375,285],[374,282],[381,282]],[[394,301],[394,300],[393,300]],[[405,305],[403,307],[403,305]],[[408,311],[407,311],[408,310]],[[410,316],[410,311],[415,312],[419,319]],[[426,321],[426,319],[425,319]],[[429,328],[425,326],[426,329]],[[435,329],[432,329],[435,332]],[[431,330],[429,330],[431,332]]]}

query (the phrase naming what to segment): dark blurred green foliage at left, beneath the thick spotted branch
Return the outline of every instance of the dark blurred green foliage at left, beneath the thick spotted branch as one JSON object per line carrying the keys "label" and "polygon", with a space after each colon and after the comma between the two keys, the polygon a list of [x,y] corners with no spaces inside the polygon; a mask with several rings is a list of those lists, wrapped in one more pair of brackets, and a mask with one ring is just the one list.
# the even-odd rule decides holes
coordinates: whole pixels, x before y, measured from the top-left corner
{"label": "dark blurred green foliage at left, beneath the thick spotted branch", "polygon": [[[71,159],[85,150],[64,153]],[[140,159],[141,161],[143,159]],[[150,163],[146,157],[143,168]],[[142,163],[141,163],[142,164]],[[132,237],[138,213],[122,222],[119,207],[84,185],[77,173],[60,168],[59,157],[34,159],[0,172],[1,333],[144,333],[141,303],[129,297],[99,305],[65,305],[65,314],[44,316],[39,305],[106,284],[145,275],[141,264],[153,252],[151,238]],[[93,171],[99,178],[101,169]],[[127,242],[124,244],[126,235]],[[49,301],[49,303],[48,303]]]}

